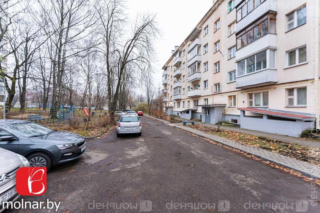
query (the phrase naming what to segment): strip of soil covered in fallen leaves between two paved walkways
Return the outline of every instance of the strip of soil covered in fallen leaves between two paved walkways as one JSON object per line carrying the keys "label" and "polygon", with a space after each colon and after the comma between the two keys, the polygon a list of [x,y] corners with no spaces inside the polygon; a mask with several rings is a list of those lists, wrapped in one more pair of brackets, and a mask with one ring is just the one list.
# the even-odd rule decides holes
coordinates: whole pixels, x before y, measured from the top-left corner
{"label": "strip of soil covered in fallen leaves between two paved walkways", "polygon": [[208,126],[188,126],[206,133],[218,135],[230,140],[254,147],[266,149],[284,156],[292,157],[301,161],[320,166],[320,149],[305,147],[299,144],[285,143],[282,141],[263,138],[256,135],[233,132],[230,130],[216,131],[215,128]]}

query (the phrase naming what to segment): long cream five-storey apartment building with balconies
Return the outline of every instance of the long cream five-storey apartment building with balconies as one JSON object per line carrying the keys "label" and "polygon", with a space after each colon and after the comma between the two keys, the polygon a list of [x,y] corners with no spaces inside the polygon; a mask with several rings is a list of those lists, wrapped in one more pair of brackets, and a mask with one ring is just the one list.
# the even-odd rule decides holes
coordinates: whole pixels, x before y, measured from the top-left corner
{"label": "long cream five-storey apartment building with balconies", "polygon": [[214,0],[162,67],[166,112],[299,136],[319,125],[319,2]]}

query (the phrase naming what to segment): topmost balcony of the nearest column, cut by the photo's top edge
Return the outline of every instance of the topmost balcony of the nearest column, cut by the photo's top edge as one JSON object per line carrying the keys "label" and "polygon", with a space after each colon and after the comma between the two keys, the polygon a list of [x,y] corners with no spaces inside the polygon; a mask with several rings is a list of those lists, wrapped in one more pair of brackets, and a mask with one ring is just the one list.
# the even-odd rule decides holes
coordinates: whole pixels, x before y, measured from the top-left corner
{"label": "topmost balcony of the nearest column, cut by the photo's top edge", "polygon": [[236,29],[237,32],[240,32],[268,11],[276,12],[276,0],[256,0],[255,3],[253,3],[253,1],[247,1],[247,3],[244,2],[238,5],[236,11]]}

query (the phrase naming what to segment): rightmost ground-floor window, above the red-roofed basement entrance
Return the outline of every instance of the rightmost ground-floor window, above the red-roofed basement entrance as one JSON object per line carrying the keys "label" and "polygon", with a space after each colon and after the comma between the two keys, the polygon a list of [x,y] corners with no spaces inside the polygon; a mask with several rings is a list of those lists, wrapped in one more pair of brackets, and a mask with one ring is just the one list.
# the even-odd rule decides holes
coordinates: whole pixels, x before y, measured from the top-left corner
{"label": "rightmost ground-floor window, above the red-roofed basement entrance", "polygon": [[287,89],[287,106],[306,106],[307,87]]}

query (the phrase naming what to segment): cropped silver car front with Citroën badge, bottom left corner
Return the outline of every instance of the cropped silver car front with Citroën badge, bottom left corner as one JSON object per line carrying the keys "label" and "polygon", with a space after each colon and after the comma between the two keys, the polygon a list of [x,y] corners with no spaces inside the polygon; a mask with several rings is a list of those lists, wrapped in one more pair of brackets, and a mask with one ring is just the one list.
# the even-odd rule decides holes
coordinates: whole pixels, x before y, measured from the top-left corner
{"label": "cropped silver car front with Citro\u00ebn badge, bottom left corner", "polygon": [[3,202],[15,202],[20,197],[16,190],[16,172],[20,167],[29,167],[25,157],[0,148],[0,212],[6,207]]}

